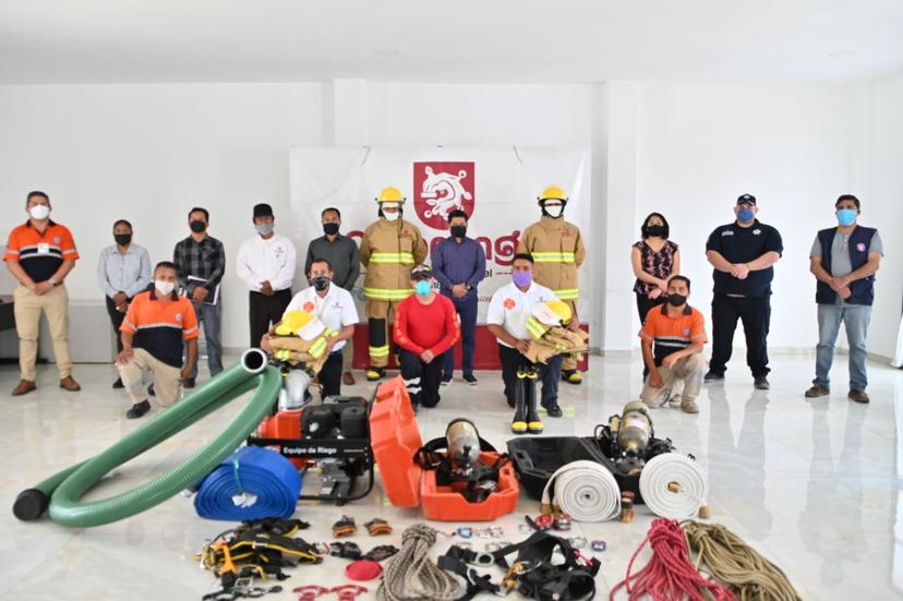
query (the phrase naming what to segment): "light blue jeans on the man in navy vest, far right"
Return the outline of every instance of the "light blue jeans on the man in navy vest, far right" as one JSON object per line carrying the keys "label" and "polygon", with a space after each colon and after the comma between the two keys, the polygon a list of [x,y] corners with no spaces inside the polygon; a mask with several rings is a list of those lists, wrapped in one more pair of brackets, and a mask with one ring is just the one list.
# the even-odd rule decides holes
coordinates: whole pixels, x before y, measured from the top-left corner
{"label": "light blue jeans on the man in navy vest, far right", "polygon": [[846,326],[846,342],[850,346],[850,389],[865,390],[868,385],[866,376],[866,336],[871,306],[866,304],[819,304],[818,305],[818,348],[816,351],[816,378],[812,384],[830,387],[828,372],[834,360],[834,342],[838,340],[840,324]]}

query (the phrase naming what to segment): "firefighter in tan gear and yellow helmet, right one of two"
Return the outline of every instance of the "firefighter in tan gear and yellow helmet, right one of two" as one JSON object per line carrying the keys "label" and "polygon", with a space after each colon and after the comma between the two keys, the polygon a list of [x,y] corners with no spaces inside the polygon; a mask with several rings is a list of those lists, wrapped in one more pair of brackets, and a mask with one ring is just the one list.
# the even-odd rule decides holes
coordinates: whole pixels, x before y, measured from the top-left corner
{"label": "firefighter in tan gear and yellow helmet, right one of two", "polygon": [[[565,221],[563,215],[567,194],[556,185],[550,185],[539,196],[542,218],[529,226],[520,236],[519,253],[530,253],[535,262],[533,278],[538,284],[551,288],[566,302],[577,316],[577,269],[586,259],[587,250],[580,236],[580,228]],[[562,362],[562,380],[568,384],[580,384],[583,377],[577,371],[577,360],[566,356]]]}

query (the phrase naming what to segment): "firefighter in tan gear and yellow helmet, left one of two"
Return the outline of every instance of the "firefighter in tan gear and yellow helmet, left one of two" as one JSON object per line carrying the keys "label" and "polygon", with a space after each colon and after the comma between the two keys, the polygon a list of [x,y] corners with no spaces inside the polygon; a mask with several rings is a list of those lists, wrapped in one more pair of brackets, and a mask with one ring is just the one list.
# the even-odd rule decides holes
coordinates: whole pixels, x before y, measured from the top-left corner
{"label": "firefighter in tan gear and yellow helmet, left one of two", "polygon": [[371,382],[385,375],[389,357],[389,314],[413,293],[411,269],[426,259],[426,242],[417,226],[401,216],[405,197],[397,188],[385,188],[376,199],[380,218],[361,240],[361,263],[366,267],[364,297],[370,335]]}

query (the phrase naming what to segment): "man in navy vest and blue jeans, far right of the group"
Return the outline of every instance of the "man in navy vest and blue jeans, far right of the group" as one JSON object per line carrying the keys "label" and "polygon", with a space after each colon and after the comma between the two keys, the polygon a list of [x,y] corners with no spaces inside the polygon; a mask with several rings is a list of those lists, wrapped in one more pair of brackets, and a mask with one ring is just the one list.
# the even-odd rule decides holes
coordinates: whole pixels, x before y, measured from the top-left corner
{"label": "man in navy vest and blue jeans, far right of the group", "polygon": [[841,322],[846,326],[850,346],[850,393],[856,402],[868,402],[866,394],[866,336],[875,299],[875,272],[881,264],[884,247],[875,228],[858,225],[859,200],[844,194],[834,203],[838,227],[816,236],[809,252],[809,271],[818,280],[818,347],[816,377],[806,397],[830,393],[831,362]]}

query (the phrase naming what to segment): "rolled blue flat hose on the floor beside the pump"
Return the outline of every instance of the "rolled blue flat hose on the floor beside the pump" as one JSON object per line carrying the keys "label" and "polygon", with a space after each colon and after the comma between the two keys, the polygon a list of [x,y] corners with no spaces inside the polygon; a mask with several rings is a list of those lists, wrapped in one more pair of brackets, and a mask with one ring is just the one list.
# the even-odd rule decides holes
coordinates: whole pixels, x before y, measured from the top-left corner
{"label": "rolled blue flat hose on the floor beside the pump", "polygon": [[194,508],[207,519],[287,518],[294,514],[300,493],[301,474],[291,461],[275,450],[246,446],[224,459],[201,482]]}

